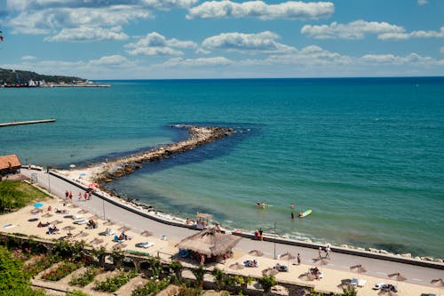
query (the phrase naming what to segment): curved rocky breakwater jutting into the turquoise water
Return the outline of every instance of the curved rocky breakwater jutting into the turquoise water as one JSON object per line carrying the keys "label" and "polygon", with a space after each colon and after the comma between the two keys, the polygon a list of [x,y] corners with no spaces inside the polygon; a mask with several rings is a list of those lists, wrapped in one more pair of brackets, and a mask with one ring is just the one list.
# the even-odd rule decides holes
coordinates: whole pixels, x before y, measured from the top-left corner
{"label": "curved rocky breakwater jutting into the turquoise water", "polygon": [[192,150],[204,144],[225,138],[234,132],[232,128],[195,126],[189,124],[174,124],[171,125],[171,127],[186,129],[190,137],[186,140],[159,148],[153,148],[136,155],[113,159],[105,165],[104,170],[99,172],[95,179],[99,184],[112,182],[117,178],[121,178],[141,168],[143,163],[160,160],[173,154]]}

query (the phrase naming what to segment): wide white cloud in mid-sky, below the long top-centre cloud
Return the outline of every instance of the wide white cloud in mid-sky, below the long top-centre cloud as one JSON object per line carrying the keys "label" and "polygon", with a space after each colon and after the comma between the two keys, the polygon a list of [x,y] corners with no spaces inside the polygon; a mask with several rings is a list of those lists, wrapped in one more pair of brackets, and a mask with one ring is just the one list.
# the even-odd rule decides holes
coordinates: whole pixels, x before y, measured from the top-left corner
{"label": "wide white cloud in mid-sky, below the long top-centre cloud", "polygon": [[279,39],[279,36],[270,31],[258,34],[223,33],[203,40],[202,47],[204,50],[226,50],[247,53],[295,51],[291,46],[276,42],[277,39]]}

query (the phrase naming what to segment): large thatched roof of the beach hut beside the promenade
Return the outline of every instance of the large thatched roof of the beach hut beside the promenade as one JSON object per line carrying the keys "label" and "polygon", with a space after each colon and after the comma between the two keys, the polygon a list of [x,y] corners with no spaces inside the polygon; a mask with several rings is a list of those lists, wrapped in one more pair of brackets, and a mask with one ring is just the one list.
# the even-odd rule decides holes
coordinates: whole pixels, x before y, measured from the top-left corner
{"label": "large thatched roof of the beach hut beside the promenade", "polygon": [[218,232],[216,228],[207,228],[184,238],[177,246],[179,249],[191,250],[212,257],[230,252],[240,240],[240,236],[226,235]]}

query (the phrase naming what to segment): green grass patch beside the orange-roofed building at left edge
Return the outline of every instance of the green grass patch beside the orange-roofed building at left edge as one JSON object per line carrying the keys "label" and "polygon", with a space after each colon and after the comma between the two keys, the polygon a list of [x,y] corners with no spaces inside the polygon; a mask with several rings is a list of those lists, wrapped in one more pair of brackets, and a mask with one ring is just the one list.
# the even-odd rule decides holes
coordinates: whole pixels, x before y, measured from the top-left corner
{"label": "green grass patch beside the orange-roofed building at left edge", "polygon": [[0,182],[0,213],[7,210],[20,209],[48,196],[31,185],[15,180]]}

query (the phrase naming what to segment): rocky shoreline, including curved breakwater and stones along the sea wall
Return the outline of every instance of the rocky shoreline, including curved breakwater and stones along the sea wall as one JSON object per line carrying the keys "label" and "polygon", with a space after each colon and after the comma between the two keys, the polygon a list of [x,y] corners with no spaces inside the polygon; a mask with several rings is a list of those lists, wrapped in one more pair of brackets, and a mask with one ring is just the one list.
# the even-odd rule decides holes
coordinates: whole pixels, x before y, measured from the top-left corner
{"label": "rocky shoreline, including curved breakwater and stones along the sea wall", "polygon": [[[189,225],[186,225],[186,220],[180,217],[175,217],[169,213],[164,213],[162,211],[157,211],[155,208],[149,204],[141,203],[137,200],[133,200],[131,198],[124,198],[119,196],[118,193],[113,192],[111,190],[107,190],[103,187],[103,183],[112,182],[117,178],[121,178],[128,174],[131,174],[135,170],[141,167],[143,163],[149,163],[151,161],[156,161],[168,157],[173,154],[186,152],[188,150],[197,148],[206,143],[210,143],[216,140],[220,140],[222,138],[226,138],[228,135],[232,134],[234,129],[230,128],[222,128],[222,127],[210,127],[210,126],[195,126],[190,124],[172,124],[170,125],[174,128],[182,128],[186,129],[190,137],[186,140],[178,141],[175,143],[171,143],[169,145],[161,146],[158,148],[152,148],[149,151],[139,152],[136,155],[131,156],[123,156],[120,158],[115,158],[107,163],[96,163],[90,164],[87,168],[84,169],[71,169],[67,170],[57,170],[55,172],[59,172],[61,175],[67,177],[67,181],[74,180],[77,183],[83,184],[85,188],[88,188],[88,185],[91,183],[98,183],[99,194],[106,196],[110,199],[115,199],[119,203],[126,204],[130,206],[135,211],[140,211],[143,214],[148,214],[150,219],[159,220],[163,223],[167,223],[170,225],[177,224],[175,226],[191,228]],[[83,176],[82,176],[83,175]],[[75,178],[75,176],[78,176]],[[171,223],[172,222],[172,223]],[[234,234],[239,234],[242,236],[252,236],[253,230],[247,229],[229,229],[225,228],[228,232],[233,232]],[[300,242],[303,244],[313,244],[316,248],[321,245],[321,243],[313,242],[310,239],[306,239],[304,241],[291,239],[289,236],[284,235],[273,235],[266,234],[266,236],[276,238],[284,241],[292,241],[292,242]],[[363,248],[360,246],[353,246],[349,244],[340,244],[336,248],[345,249],[345,250],[353,250],[356,252],[370,252],[374,255],[388,255],[394,256],[395,258],[408,259],[408,260],[421,260],[428,262],[437,262],[442,263],[443,260],[440,258],[433,258],[431,256],[415,256],[413,257],[411,253],[392,253],[387,252],[385,250],[379,250],[376,248]]]}

